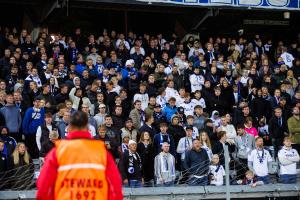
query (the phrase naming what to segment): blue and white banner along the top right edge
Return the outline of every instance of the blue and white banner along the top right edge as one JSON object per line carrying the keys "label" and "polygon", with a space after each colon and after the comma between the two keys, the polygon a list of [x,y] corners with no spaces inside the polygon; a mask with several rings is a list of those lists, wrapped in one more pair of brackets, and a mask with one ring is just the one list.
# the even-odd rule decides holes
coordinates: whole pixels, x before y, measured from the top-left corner
{"label": "blue and white banner along the top right edge", "polygon": [[238,8],[260,8],[260,9],[281,9],[299,10],[300,0],[136,0],[147,3],[168,3],[185,6],[218,6],[218,7],[238,7]]}

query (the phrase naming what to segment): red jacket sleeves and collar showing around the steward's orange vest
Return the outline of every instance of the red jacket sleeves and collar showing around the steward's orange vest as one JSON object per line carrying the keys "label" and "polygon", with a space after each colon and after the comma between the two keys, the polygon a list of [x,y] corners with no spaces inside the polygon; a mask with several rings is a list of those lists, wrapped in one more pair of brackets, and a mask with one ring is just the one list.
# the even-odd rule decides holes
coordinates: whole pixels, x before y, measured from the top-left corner
{"label": "red jacket sleeves and collar showing around the steward's orange vest", "polygon": [[[70,132],[67,139],[91,138],[90,134],[83,131]],[[45,163],[37,180],[37,200],[53,200],[54,188],[57,177],[58,163],[56,148],[53,148],[45,158]],[[108,183],[108,200],[122,200],[122,180],[113,157],[107,153],[106,179]]]}

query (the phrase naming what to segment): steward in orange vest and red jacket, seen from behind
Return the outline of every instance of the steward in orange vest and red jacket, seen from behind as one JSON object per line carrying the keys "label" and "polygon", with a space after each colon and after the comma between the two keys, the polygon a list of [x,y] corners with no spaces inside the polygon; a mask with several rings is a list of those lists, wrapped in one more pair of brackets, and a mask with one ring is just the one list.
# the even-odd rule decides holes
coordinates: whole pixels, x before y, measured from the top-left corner
{"label": "steward in orange vest and red jacket, seen from behind", "polygon": [[37,181],[41,200],[121,200],[122,181],[114,159],[102,141],[93,140],[88,117],[71,117],[66,140],[56,143],[45,158]]}

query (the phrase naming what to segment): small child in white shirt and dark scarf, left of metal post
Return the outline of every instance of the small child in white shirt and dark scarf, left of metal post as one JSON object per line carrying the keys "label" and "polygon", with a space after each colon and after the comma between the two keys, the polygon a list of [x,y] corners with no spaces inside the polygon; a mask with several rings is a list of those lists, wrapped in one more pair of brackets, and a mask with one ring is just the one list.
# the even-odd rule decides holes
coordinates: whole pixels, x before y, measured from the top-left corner
{"label": "small child in white shirt and dark scarf, left of metal post", "polygon": [[210,171],[210,184],[220,186],[224,183],[225,170],[220,165],[220,159],[218,154],[212,156],[211,165],[209,166]]}

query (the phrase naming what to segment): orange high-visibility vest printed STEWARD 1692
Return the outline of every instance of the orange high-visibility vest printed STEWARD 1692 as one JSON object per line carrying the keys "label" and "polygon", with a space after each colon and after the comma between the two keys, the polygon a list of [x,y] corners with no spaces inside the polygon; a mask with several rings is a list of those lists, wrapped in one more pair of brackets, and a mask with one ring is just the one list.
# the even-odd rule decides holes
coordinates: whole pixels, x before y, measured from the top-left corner
{"label": "orange high-visibility vest printed STEWARD 1692", "polygon": [[57,200],[106,200],[107,152],[102,141],[75,139],[56,143]]}

